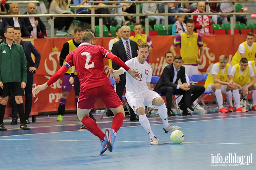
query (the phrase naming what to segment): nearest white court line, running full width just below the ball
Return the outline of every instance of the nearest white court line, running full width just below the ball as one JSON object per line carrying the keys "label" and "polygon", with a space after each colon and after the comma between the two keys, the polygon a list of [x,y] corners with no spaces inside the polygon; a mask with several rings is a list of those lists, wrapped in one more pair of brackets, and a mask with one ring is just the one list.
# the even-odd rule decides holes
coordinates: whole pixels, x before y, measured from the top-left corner
{"label": "nearest white court line, running full width just below the ball", "polygon": [[[99,142],[92,140],[53,140],[53,139],[0,139],[0,141],[64,141],[64,142]],[[115,141],[115,142],[138,142],[148,143],[148,141]],[[159,142],[159,143],[172,143],[172,142]],[[200,144],[228,144],[228,145],[256,145],[256,143],[214,143],[214,142],[183,142],[183,143],[200,143]]]}

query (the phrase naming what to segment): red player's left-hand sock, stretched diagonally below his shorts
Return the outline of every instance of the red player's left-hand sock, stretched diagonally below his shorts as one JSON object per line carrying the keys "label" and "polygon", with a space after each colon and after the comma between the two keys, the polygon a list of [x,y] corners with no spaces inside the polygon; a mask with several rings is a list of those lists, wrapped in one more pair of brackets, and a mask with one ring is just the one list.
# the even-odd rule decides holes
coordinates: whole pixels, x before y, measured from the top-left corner
{"label": "red player's left-hand sock, stretched diagonally below his shorts", "polygon": [[103,133],[103,131],[99,128],[97,123],[92,118],[90,118],[89,116],[85,116],[81,122],[88,131],[90,131],[95,136],[98,136],[101,141],[104,140],[104,137],[106,136],[105,133]]}

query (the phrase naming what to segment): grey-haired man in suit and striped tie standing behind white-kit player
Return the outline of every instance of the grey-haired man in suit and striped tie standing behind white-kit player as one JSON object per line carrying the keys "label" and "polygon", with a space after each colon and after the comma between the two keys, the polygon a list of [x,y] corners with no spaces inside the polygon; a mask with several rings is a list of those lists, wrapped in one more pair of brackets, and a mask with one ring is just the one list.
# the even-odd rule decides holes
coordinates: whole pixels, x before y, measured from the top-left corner
{"label": "grey-haired man in suit and striped tie standing behind white-kit player", "polygon": [[[137,43],[135,41],[129,40],[129,37],[131,35],[131,28],[129,26],[124,25],[121,27],[121,35],[121,40],[113,44],[111,52],[114,55],[118,56],[123,62],[125,62],[131,58],[135,58],[138,56]],[[120,66],[114,62],[112,62],[112,66],[114,70],[118,70],[120,68]],[[125,74],[114,77],[114,79],[116,82],[116,93],[122,101],[123,90],[125,88]],[[130,106],[129,110],[131,114],[130,120],[139,120]]]}

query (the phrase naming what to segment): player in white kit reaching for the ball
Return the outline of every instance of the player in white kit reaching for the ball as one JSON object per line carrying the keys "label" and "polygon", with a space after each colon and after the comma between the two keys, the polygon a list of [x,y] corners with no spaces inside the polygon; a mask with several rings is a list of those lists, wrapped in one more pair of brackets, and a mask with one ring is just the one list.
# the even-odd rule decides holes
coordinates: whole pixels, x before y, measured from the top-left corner
{"label": "player in white kit reaching for the ball", "polygon": [[[171,126],[167,119],[167,108],[164,100],[156,92],[150,90],[150,82],[152,77],[151,66],[146,62],[149,54],[149,45],[147,43],[141,43],[138,47],[138,56],[136,58],[129,59],[125,62],[131,69],[138,70],[141,73],[141,78],[138,80],[132,80],[129,74],[126,74],[126,99],[133,111],[139,115],[139,121],[142,127],[147,131],[150,136],[150,144],[158,145],[158,139],[150,128],[150,123],[146,116],[145,106],[148,107],[148,112],[158,106],[158,114],[162,118],[164,124],[164,132],[170,133],[174,130],[180,129],[179,126]],[[109,69],[109,73],[113,76],[119,76],[126,71],[122,67],[119,70]]]}

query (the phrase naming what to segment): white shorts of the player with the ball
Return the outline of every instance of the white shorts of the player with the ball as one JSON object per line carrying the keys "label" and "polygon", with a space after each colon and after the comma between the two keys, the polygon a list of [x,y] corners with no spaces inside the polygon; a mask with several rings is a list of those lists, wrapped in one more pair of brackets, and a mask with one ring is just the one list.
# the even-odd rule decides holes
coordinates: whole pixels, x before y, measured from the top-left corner
{"label": "white shorts of the player with the ball", "polygon": [[139,107],[143,107],[145,109],[145,106],[148,107],[156,107],[156,105],[152,104],[152,101],[156,97],[160,97],[158,93],[155,91],[149,90],[148,92],[141,94],[141,95],[131,95],[131,94],[125,94],[126,100],[128,104],[131,106],[135,114],[138,114],[136,110]]}

